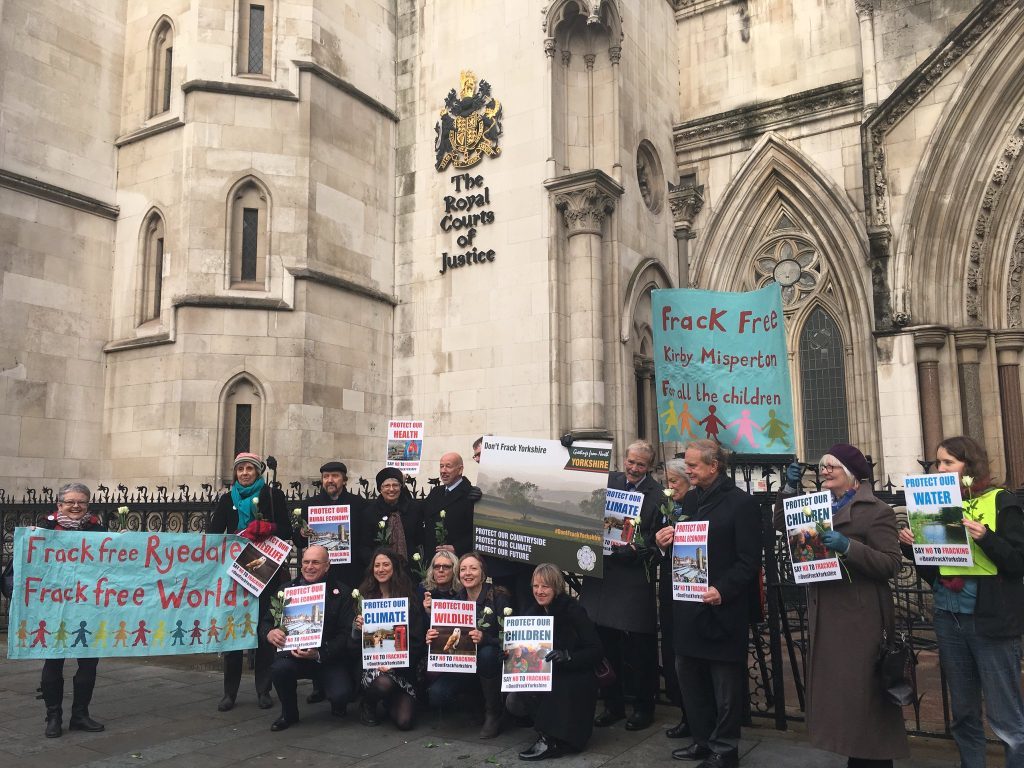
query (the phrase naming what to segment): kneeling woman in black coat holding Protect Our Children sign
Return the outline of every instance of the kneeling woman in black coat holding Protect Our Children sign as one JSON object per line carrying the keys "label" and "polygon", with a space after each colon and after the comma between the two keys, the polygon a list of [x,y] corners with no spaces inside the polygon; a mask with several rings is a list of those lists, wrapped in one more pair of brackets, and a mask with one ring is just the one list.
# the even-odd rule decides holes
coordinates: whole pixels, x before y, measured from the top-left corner
{"label": "kneeling woman in black coat holding Protect Our Children sign", "polygon": [[565,592],[557,566],[538,565],[534,570],[530,615],[554,616],[554,642],[545,657],[552,662],[551,691],[510,693],[506,707],[516,717],[531,716],[539,737],[520,760],[547,760],[567,752],[581,752],[594,730],[601,641],[587,611]]}

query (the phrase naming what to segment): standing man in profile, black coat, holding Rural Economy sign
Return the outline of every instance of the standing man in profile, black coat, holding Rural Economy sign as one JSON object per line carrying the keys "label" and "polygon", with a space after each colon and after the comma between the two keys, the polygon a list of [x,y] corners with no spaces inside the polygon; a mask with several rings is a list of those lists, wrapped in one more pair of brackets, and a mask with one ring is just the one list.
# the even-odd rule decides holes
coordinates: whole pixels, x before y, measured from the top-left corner
{"label": "standing man in profile, black coat, holding Rural Economy sign", "polygon": [[683,461],[693,490],[683,498],[689,520],[708,520],[708,591],[703,602],[676,601],[676,671],[693,743],[677,760],[698,768],[739,764],[748,634],[761,573],[757,502],[726,475],[728,454],[714,440],[694,440]]}

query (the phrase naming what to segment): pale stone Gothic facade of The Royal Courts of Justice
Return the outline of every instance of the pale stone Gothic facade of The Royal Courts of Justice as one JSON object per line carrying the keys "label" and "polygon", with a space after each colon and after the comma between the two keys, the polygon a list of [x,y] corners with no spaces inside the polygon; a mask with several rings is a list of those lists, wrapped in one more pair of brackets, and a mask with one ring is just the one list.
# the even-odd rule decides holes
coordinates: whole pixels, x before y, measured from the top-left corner
{"label": "pale stone Gothic facade of The Royal Courts of Justice", "polygon": [[1019,0],[0,0],[0,487],[369,476],[389,418],[431,462],[653,438],[650,291],[773,280],[801,457],[967,432],[1024,484],[1021,39]]}

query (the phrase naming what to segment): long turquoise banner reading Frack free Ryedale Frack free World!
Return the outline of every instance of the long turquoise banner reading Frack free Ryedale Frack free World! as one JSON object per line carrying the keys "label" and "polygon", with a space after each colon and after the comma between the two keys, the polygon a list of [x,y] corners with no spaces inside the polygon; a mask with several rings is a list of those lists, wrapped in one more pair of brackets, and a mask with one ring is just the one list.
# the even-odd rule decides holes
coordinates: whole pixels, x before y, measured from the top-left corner
{"label": "long turquoise banner reading Frack free Ryedale Frack free World!", "polygon": [[258,601],[227,574],[245,545],[223,534],[17,528],[7,655],[255,648]]}

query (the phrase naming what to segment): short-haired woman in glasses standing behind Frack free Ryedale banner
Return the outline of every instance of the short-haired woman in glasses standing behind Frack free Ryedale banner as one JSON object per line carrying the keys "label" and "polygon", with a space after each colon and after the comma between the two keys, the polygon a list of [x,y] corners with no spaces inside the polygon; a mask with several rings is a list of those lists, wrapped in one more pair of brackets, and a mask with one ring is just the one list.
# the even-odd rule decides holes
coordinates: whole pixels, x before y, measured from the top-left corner
{"label": "short-haired woman in glasses standing behind Frack free Ryedale banner", "polygon": [[[106,525],[89,512],[92,492],[81,482],[69,482],[57,490],[56,512],[49,515],[40,527],[50,530],[106,530]],[[84,622],[83,622],[84,625]],[[83,630],[85,628],[83,627]],[[61,733],[63,706],[63,658],[43,662],[43,700],[46,702],[46,737],[56,738]],[[101,731],[103,725],[89,717],[89,702],[96,685],[98,658],[79,658],[78,672],[73,681],[74,698],[71,705],[69,730]]]}

